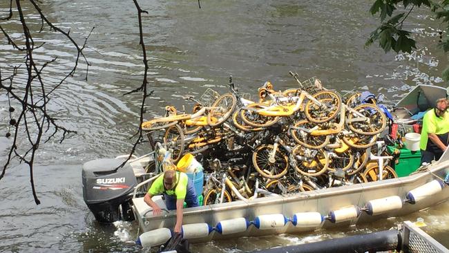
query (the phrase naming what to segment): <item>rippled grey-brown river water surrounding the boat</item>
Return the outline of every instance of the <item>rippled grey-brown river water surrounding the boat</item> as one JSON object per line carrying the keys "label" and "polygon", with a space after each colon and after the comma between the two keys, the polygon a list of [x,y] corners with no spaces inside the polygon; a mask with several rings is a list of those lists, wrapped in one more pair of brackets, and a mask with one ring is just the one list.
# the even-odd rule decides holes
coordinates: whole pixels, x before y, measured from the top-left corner
{"label": "rippled grey-brown river water surrounding the boat", "polygon": [[[5,17],[9,1],[0,1]],[[32,28],[39,15],[21,1]],[[378,20],[368,13],[372,1],[140,1],[144,10],[144,36],[149,55],[153,96],[147,100],[146,118],[160,115],[166,104],[181,106],[181,96],[200,95],[206,88],[227,92],[229,75],[242,91],[255,93],[263,82],[276,89],[296,86],[289,71],[300,79],[319,77],[328,88],[353,88],[383,93],[397,101],[415,84],[446,86],[441,71],[447,57],[436,48],[438,26],[422,11],[410,18],[419,49],[412,54],[385,54],[365,40]],[[139,46],[137,12],[133,1],[50,0],[41,4],[50,19],[82,44],[90,30],[85,64],[51,95],[48,108],[61,125],[77,131],[59,144],[41,144],[35,161],[35,186],[41,205],[32,198],[26,166],[13,160],[0,181],[0,252],[146,252],[133,245],[137,223],[101,225],[82,197],[84,162],[112,158],[131,150],[137,130],[140,95],[123,95],[142,83],[144,66]],[[17,14],[15,14],[17,15]],[[1,21],[12,38],[19,39],[17,21]],[[73,66],[73,47],[48,29],[34,34],[46,41],[35,59],[57,64],[46,68],[46,84],[54,86]],[[11,73],[22,57],[0,35],[2,75]],[[19,73],[20,86],[26,75]],[[17,104],[13,104],[17,106]],[[8,99],[0,92],[0,161],[6,160],[10,139]],[[60,136],[59,136],[60,137]],[[145,144],[137,152],[147,151]],[[191,245],[192,252],[245,252],[327,238],[390,229],[401,221],[422,217],[425,228],[449,246],[449,205],[436,207],[376,224],[338,231],[237,238]]]}

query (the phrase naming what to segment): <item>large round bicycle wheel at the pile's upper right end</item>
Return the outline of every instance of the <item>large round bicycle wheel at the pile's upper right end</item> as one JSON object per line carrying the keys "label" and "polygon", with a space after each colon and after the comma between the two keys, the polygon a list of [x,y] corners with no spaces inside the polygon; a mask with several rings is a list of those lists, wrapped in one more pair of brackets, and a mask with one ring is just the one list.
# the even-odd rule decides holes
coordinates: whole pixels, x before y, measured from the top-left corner
{"label": "large round bicycle wheel at the pile's upper right end", "polygon": [[[354,108],[360,115],[356,115],[349,111],[347,115],[347,127],[354,133],[362,135],[375,135],[381,133],[387,126],[387,120],[383,111],[374,104],[360,104]],[[357,121],[360,118],[361,121]],[[366,120],[362,120],[365,118]]]}

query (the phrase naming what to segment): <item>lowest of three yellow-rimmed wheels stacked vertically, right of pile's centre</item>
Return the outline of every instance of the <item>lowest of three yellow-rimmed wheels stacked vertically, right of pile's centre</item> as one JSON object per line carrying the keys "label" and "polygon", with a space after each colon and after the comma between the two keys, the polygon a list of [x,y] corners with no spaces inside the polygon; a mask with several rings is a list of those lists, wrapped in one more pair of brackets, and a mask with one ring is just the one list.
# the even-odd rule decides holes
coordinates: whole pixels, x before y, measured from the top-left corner
{"label": "lowest of three yellow-rimmed wheels stacked vertically, right of pile's centre", "polygon": [[320,176],[329,166],[329,157],[323,149],[307,149],[296,145],[292,153],[296,158],[296,171],[305,176]]}

